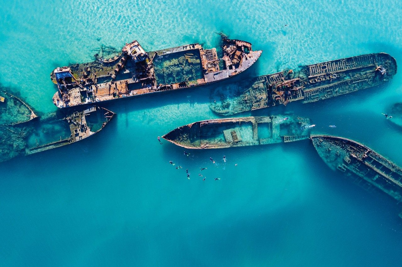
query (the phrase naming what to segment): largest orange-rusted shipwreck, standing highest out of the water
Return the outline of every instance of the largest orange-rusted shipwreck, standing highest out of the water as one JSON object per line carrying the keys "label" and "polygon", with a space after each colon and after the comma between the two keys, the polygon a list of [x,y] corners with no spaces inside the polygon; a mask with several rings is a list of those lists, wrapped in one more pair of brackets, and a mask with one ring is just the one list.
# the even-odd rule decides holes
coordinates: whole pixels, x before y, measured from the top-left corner
{"label": "largest orange-rusted shipwreck, standing highest out of the water", "polygon": [[213,83],[248,69],[262,51],[249,42],[222,37],[222,51],[198,44],[147,53],[137,41],[126,44],[112,59],[57,68],[51,79],[60,108],[172,91]]}

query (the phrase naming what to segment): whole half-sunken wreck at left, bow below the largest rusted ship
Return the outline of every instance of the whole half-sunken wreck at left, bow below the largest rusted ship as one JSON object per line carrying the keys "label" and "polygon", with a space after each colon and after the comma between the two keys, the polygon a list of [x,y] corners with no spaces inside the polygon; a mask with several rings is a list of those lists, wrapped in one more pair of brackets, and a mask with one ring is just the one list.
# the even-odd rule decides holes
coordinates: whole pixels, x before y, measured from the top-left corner
{"label": "whole half-sunken wreck at left, bow below the largest rusted ship", "polygon": [[66,117],[49,113],[37,121],[0,126],[0,162],[77,142],[103,129],[115,113],[88,107]]}

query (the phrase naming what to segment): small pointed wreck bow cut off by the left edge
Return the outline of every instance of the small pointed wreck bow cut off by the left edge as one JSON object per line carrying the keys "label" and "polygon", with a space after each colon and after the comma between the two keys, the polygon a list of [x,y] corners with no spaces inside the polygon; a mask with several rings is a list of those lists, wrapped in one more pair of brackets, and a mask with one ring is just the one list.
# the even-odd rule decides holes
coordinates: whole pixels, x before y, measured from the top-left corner
{"label": "small pointed wreck bow cut off by the left edge", "polygon": [[36,117],[33,109],[21,98],[0,89],[0,125],[16,125]]}

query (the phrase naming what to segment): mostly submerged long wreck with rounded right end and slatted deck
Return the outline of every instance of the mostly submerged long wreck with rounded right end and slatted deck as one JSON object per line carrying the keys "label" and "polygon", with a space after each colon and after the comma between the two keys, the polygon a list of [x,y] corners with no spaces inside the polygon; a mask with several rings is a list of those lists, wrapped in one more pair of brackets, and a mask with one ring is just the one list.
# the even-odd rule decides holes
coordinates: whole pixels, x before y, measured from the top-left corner
{"label": "mostly submerged long wreck with rounded right end and slatted deck", "polygon": [[231,115],[292,101],[310,103],[379,85],[390,80],[396,70],[395,59],[386,53],[307,65],[298,71],[285,69],[217,87],[210,107],[216,113]]}

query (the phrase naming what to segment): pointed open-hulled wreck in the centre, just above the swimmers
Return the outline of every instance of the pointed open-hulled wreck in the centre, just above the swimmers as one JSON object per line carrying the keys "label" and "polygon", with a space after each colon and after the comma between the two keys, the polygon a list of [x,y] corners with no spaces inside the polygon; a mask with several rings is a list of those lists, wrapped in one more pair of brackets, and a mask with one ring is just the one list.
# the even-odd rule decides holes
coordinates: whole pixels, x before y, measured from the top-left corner
{"label": "pointed open-hulled wreck in the centre, just above the swimmers", "polygon": [[209,119],[170,131],[164,139],[184,148],[229,148],[308,139],[310,119],[294,115]]}

